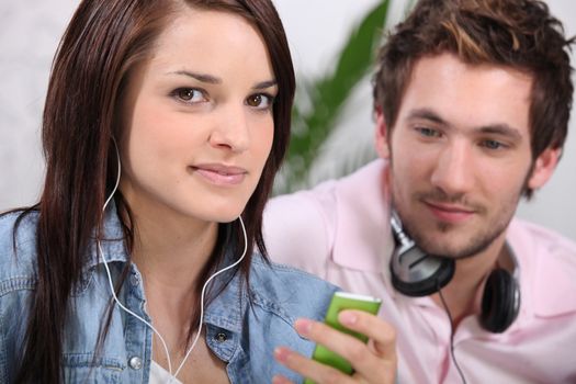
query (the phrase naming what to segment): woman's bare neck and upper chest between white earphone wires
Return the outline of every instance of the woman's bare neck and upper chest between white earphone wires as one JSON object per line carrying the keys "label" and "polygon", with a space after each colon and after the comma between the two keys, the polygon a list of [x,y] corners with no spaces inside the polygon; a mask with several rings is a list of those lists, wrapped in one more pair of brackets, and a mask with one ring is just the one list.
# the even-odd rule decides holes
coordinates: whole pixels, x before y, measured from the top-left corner
{"label": "woman's bare neck and upper chest between white earphone wires", "polygon": [[176,359],[200,313],[204,281],[199,279],[213,255],[218,224],[148,210],[134,210],[132,219],[132,260],[143,276],[146,310]]}

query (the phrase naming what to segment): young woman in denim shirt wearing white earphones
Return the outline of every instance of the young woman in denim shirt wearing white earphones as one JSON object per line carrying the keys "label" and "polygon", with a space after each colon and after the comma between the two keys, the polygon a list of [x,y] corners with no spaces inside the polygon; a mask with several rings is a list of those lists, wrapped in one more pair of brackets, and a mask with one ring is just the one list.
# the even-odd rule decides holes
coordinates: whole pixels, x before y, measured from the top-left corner
{"label": "young woman in denim shirt wearing white earphones", "polygon": [[82,1],[50,76],[42,197],[0,217],[0,382],[334,377],[303,355],[337,332],[293,324],[335,289],[269,264],[262,241],[293,94],[268,0]]}

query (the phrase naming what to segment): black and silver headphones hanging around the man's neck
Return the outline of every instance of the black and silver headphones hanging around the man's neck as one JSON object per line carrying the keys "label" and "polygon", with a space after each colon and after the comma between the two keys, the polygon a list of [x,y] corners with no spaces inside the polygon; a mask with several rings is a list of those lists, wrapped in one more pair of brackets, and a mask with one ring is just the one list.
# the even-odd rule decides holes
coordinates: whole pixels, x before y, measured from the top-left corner
{"label": "black and silver headphones hanging around the man's neck", "polygon": [[[392,233],[396,246],[389,270],[394,287],[413,297],[428,296],[445,286],[455,271],[453,259],[432,256],[418,248],[404,231],[395,212],[391,215]],[[508,247],[509,252],[512,250]],[[515,262],[516,258],[511,257]],[[506,269],[495,269],[484,287],[479,323],[490,332],[501,334],[513,323],[520,310],[518,282]]]}

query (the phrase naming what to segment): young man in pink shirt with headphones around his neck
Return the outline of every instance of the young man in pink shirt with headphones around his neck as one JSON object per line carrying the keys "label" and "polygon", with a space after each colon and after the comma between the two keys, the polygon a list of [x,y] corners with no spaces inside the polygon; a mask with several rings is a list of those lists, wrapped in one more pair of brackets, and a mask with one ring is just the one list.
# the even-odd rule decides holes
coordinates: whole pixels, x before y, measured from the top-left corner
{"label": "young man in pink shirt with headphones around his neck", "polygon": [[576,244],[513,218],[561,157],[571,44],[541,1],[420,1],[379,57],[381,159],[268,206],[275,261],[383,298],[400,383],[576,382]]}

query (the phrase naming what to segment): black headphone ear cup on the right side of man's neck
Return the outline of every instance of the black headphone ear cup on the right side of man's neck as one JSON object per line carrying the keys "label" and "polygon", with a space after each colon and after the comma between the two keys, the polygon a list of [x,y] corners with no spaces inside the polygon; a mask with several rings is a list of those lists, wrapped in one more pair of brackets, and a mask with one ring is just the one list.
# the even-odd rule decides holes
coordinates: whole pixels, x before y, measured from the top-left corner
{"label": "black headphone ear cup on the right side of man's neck", "polygon": [[520,291],[515,278],[504,269],[494,270],[484,287],[481,325],[501,334],[513,323],[520,309]]}

